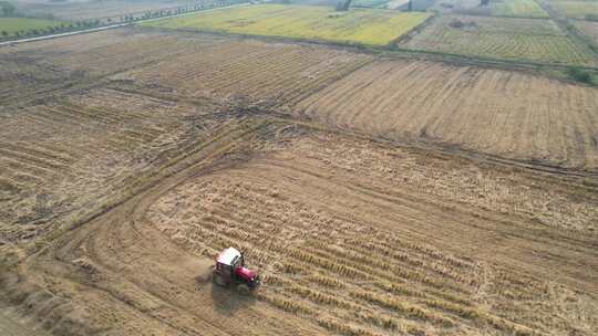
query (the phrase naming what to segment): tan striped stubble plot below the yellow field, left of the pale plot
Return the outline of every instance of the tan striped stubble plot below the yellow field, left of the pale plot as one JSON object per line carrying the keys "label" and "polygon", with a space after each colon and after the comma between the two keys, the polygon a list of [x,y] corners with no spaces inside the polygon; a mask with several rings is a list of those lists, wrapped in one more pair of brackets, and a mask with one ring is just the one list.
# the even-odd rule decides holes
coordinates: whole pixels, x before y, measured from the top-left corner
{"label": "tan striped stubble plot below the yellow field, left of the pale plot", "polygon": [[[186,97],[290,105],[372,61],[369,55],[320,46],[220,42],[114,78],[171,87],[177,95]],[[223,59],[223,54],[227,57]]]}

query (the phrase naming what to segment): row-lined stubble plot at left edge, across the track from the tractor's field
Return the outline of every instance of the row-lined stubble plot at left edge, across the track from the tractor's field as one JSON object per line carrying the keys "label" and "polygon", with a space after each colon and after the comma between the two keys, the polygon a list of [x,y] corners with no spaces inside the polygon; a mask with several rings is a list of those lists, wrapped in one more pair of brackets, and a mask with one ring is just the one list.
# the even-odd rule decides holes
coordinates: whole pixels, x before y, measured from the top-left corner
{"label": "row-lined stubble plot at left edge, across the track from the tractor's field", "polygon": [[126,195],[164,153],[200,139],[216,111],[110,88],[8,108],[0,114],[0,240],[47,233],[56,218]]}

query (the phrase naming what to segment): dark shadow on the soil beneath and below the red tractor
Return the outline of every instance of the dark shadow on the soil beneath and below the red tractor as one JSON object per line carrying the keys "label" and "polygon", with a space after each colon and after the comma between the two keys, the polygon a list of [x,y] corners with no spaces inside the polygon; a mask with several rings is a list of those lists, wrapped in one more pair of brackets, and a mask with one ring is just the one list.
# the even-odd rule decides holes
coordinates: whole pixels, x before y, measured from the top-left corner
{"label": "dark shadow on the soil beneath and below the red tractor", "polygon": [[252,293],[241,294],[235,286],[220,287],[212,281],[196,279],[197,286],[210,292],[214,311],[224,316],[234,316],[237,311],[246,309],[256,304],[256,296]]}

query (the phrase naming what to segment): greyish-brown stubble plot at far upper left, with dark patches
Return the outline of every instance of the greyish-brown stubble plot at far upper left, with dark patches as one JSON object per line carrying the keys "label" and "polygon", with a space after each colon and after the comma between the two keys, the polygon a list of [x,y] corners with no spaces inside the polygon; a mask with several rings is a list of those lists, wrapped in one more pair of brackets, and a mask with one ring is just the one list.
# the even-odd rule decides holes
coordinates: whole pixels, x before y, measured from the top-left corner
{"label": "greyish-brown stubble plot at far upper left, with dark patches", "polygon": [[0,112],[60,95],[68,87],[96,86],[111,74],[166,59],[186,45],[164,34],[123,29],[2,48]]}

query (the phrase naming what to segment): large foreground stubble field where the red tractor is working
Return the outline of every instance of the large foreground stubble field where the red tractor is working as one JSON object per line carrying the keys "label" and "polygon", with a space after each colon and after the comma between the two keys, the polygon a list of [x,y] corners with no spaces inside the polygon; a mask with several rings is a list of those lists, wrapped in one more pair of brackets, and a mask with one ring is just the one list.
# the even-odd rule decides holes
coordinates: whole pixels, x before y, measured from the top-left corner
{"label": "large foreground stubble field where the red tractor is working", "polygon": [[[11,297],[83,335],[598,330],[595,189],[280,120],[220,132],[30,258]],[[198,255],[228,245],[264,274],[255,297],[205,281]]]}

